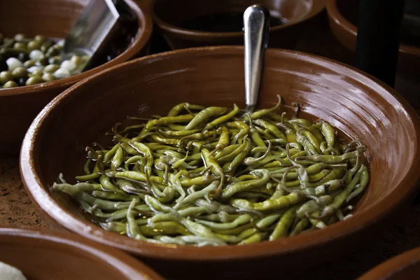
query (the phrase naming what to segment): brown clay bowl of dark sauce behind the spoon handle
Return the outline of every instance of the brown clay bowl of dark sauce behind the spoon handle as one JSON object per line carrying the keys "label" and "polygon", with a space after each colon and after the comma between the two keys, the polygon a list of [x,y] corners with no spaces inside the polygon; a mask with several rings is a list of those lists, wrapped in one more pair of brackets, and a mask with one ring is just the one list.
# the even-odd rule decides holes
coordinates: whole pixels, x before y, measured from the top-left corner
{"label": "brown clay bowl of dark sauce behind the spoon handle", "polygon": [[204,45],[243,45],[241,15],[237,31],[209,31],[207,27],[188,29],[190,25],[187,27],[184,25],[185,22],[209,15],[244,13],[248,6],[255,3],[267,7],[272,17],[281,17],[288,21],[285,25],[272,27],[269,45],[274,48],[293,48],[297,38],[304,31],[304,24],[323,10],[326,0],[155,0],[154,20],[172,49]]}

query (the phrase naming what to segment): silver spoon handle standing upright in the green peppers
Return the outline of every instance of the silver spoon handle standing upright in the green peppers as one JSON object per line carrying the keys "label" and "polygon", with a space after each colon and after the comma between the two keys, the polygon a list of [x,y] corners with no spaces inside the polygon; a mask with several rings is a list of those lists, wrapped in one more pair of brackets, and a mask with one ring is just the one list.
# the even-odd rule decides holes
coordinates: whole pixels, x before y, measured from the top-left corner
{"label": "silver spoon handle standing upright in the green peppers", "polygon": [[267,8],[260,5],[246,8],[244,12],[245,102],[248,113],[251,113],[257,104],[268,37],[269,11]]}

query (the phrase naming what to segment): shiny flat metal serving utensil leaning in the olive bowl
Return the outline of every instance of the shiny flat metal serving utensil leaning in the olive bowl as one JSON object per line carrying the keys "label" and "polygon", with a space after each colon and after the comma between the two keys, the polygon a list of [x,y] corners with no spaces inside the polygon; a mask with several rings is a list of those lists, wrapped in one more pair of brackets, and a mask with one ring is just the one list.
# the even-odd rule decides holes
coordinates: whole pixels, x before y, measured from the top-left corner
{"label": "shiny flat metal serving utensil leaning in the olive bowl", "polygon": [[84,71],[106,50],[106,45],[124,28],[124,20],[135,15],[123,0],[90,0],[67,34],[62,48],[62,60],[72,55],[85,56]]}

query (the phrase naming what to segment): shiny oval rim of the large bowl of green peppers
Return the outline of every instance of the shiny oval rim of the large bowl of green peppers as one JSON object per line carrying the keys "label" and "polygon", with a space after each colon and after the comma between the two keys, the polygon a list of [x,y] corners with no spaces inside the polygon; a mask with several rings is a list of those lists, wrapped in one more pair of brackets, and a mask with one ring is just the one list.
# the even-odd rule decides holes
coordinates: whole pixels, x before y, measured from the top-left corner
{"label": "shiny oval rim of the large bowl of green peppers", "polygon": [[[64,226],[73,232],[77,232],[87,238],[93,239],[104,244],[115,246],[116,248],[123,249],[130,253],[142,255],[150,258],[160,258],[166,260],[246,260],[258,257],[268,257],[272,255],[286,255],[296,251],[302,251],[303,249],[316,248],[317,246],[328,244],[333,239],[343,239],[346,235],[354,235],[360,232],[365,227],[369,227],[383,221],[384,218],[390,216],[398,207],[408,199],[408,197],[414,193],[417,187],[417,182],[420,178],[420,172],[417,168],[420,165],[420,157],[415,156],[412,167],[407,171],[407,175],[400,182],[400,188],[394,190],[387,197],[384,197],[381,201],[377,202],[374,207],[370,207],[370,211],[366,211],[364,215],[358,217],[358,219],[349,218],[346,221],[336,223],[328,226],[328,230],[316,230],[309,232],[307,235],[297,235],[294,237],[288,237],[286,239],[279,239],[275,241],[264,241],[258,244],[246,244],[241,246],[174,246],[172,244],[151,244],[147,241],[139,241],[136,239],[130,239],[130,237],[124,237],[116,235],[113,232],[106,232],[102,228],[92,228],[92,223],[84,219],[78,218],[71,214],[70,211],[64,207],[59,206],[57,201],[50,195],[47,188],[43,188],[41,179],[38,176],[37,166],[34,162],[34,151],[33,144],[39,137],[38,130],[42,123],[48,118],[48,115],[53,109],[58,106],[59,102],[64,102],[65,99],[71,94],[71,92],[78,90],[78,87],[83,87],[86,83],[91,83],[104,73],[109,73],[118,68],[130,67],[132,64],[148,64],[154,61],[160,61],[162,59],[171,59],[172,57],[178,57],[186,55],[189,52],[199,53],[200,55],[211,55],[215,52],[218,53],[229,53],[237,54],[243,53],[244,48],[242,46],[211,46],[211,47],[200,47],[200,48],[189,48],[182,50],[173,50],[171,52],[162,52],[156,55],[150,55],[148,57],[141,57],[134,59],[130,62],[125,62],[118,66],[113,66],[110,69],[94,74],[89,78],[80,81],[76,85],[73,85],[69,89],[65,90],[62,94],[59,94],[53,99],[41,113],[35,118],[34,122],[29,127],[25,139],[22,143],[20,153],[20,174],[22,181],[25,185],[29,197],[32,202],[50,216],[53,220],[57,221],[60,225]],[[388,99],[393,99],[401,105],[402,109],[405,109],[407,118],[412,121],[413,129],[416,133],[416,151],[415,155],[420,153],[420,118],[416,114],[416,111],[403,99],[400,94],[395,92],[391,87],[381,82],[377,78],[374,78],[362,71],[335,62],[332,59],[320,57],[317,55],[309,55],[304,52],[297,52],[294,50],[283,50],[283,49],[267,49],[267,54],[273,53],[273,55],[284,55],[288,57],[297,57],[309,61],[312,63],[328,65],[328,68],[341,71],[343,73],[351,73],[351,77],[358,80],[360,83],[369,83],[382,92],[382,96]],[[266,54],[266,55],[267,55]],[[100,77],[99,77],[100,78]],[[88,229],[87,229],[88,228]],[[222,248],[222,249],[221,249]]]}

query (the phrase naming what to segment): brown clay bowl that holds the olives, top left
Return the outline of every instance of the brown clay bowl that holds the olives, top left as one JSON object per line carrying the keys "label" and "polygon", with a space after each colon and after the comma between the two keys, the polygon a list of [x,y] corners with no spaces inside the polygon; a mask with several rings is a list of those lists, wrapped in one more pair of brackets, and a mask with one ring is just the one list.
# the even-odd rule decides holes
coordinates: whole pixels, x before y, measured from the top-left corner
{"label": "brown clay bowl that holds the olives, top left", "polygon": [[[111,61],[76,76],[39,85],[0,90],[0,154],[19,153],[29,125],[43,107],[67,87],[121,62],[146,53],[152,32],[152,19],[142,6],[125,0],[137,15],[139,30],[125,52]],[[6,37],[24,33],[28,37],[43,34],[64,38],[88,0],[15,0],[5,1],[0,9],[0,32]]]}

